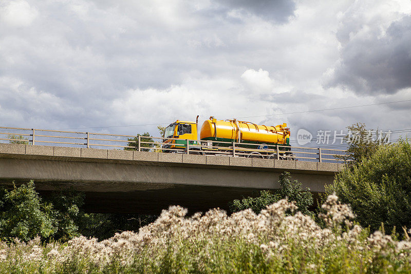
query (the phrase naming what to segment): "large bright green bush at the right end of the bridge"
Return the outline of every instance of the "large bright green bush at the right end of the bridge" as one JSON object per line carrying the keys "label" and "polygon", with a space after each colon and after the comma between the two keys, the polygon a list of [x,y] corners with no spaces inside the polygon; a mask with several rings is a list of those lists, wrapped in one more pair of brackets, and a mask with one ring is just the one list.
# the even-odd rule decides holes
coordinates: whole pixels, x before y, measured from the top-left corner
{"label": "large bright green bush at the right end of the bridge", "polygon": [[368,158],[337,174],[326,192],[350,204],[363,226],[411,228],[411,147],[408,140],[380,145]]}

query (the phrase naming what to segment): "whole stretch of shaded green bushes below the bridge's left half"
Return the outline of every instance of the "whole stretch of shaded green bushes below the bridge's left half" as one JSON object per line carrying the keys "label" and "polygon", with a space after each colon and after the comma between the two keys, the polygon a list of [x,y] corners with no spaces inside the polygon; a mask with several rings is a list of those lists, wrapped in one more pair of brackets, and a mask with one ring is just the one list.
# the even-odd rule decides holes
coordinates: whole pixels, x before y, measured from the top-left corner
{"label": "whole stretch of shaded green bushes below the bridge's left half", "polygon": [[8,191],[0,189],[0,238],[19,238],[25,242],[41,236],[66,242],[80,234],[101,240],[116,232],[137,231],[157,216],[138,214],[84,213],[82,192],[60,190],[39,196],[33,181]]}

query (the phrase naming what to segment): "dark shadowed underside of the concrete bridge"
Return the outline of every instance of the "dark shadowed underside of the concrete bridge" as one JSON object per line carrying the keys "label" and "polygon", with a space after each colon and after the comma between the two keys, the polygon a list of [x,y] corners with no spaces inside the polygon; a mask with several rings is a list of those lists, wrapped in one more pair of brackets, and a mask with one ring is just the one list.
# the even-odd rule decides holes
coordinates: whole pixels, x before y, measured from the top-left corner
{"label": "dark shadowed underside of the concrete bridge", "polygon": [[[22,182],[26,182],[26,180],[18,180],[16,185]],[[6,184],[12,187],[10,181]],[[115,184],[124,184],[124,182],[111,182],[111,185]],[[88,186],[90,186],[84,187],[85,185],[88,185],[88,183],[35,180],[35,188],[41,196],[48,196],[52,190],[66,189],[68,186],[72,186],[74,189],[88,189]],[[228,203],[232,200],[256,196],[259,191],[255,188],[167,184],[153,186],[144,183],[134,184],[134,186],[141,188],[141,190],[84,191],[85,204],[83,210],[94,213],[159,214],[162,209],[167,209],[170,205],[180,205],[188,208],[190,214],[192,214],[217,207],[228,210]]]}

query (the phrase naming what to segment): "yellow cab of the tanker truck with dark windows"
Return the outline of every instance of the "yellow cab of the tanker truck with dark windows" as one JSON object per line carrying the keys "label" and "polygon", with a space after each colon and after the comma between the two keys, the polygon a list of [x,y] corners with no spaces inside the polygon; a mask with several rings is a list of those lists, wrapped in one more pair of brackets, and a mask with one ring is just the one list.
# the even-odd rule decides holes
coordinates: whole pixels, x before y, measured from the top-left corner
{"label": "yellow cab of the tanker truck with dark windows", "polygon": [[187,140],[189,144],[195,144],[197,140],[197,124],[196,122],[177,120],[165,128],[164,138],[176,138],[178,140],[164,139],[163,152],[178,152],[185,150],[187,147]]}

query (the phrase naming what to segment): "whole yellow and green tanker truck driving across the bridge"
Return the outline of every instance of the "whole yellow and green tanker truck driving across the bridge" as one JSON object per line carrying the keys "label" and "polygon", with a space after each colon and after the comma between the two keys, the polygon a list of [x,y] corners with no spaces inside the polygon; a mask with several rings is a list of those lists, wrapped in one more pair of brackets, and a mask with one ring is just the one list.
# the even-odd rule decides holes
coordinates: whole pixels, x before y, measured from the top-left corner
{"label": "whole yellow and green tanker truck driving across the bridge", "polygon": [[[293,159],[290,152],[290,129],[286,123],[276,126],[257,125],[252,122],[217,120],[214,117],[203,122],[200,141],[197,137],[198,116],[196,122],[177,120],[166,127],[163,152],[184,153],[189,145],[190,154],[218,154],[232,152],[235,142],[238,156],[252,158]],[[281,145],[277,156],[273,152],[276,145]],[[218,148],[214,148],[218,147]],[[267,152],[261,151],[266,149]],[[269,149],[269,150],[268,150]]]}

